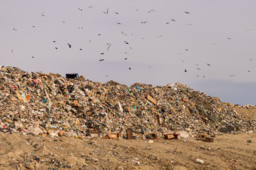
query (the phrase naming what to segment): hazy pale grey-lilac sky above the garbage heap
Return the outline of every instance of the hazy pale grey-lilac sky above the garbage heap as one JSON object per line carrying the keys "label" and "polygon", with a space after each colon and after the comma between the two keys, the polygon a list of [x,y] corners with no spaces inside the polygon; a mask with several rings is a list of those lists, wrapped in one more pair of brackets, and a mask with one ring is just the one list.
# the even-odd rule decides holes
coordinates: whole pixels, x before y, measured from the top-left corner
{"label": "hazy pale grey-lilac sky above the garbage heap", "polygon": [[1,0],[0,65],[127,86],[180,82],[222,102],[256,105],[255,7],[255,0]]}

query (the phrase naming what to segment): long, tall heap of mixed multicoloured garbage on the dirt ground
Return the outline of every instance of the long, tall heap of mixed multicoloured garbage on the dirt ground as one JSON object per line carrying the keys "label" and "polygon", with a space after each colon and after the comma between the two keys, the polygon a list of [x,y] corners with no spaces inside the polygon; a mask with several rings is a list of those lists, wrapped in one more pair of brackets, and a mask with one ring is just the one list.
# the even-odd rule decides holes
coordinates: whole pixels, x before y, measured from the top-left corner
{"label": "long, tall heap of mixed multicoloured garbage on the dirt ground", "polygon": [[255,120],[241,120],[232,104],[181,83],[127,87],[10,66],[0,71],[0,131],[5,133],[83,138],[122,132],[125,137],[132,129],[135,139],[255,130]]}

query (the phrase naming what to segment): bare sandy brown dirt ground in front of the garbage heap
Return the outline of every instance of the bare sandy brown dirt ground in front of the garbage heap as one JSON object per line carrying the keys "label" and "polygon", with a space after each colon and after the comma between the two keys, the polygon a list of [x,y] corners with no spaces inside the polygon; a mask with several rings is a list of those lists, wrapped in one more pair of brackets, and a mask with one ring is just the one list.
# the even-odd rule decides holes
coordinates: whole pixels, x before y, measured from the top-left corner
{"label": "bare sandy brown dirt ground in front of the garbage heap", "polygon": [[[251,142],[250,142],[251,141]],[[204,160],[203,164],[196,159]],[[256,134],[187,140],[33,137],[0,132],[0,169],[256,169]]]}

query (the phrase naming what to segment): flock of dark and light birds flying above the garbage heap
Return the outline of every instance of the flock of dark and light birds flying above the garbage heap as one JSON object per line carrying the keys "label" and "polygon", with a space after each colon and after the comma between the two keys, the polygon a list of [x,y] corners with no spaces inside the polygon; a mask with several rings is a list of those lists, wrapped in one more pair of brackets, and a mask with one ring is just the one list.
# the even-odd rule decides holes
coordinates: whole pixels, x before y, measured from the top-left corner
{"label": "flock of dark and light birds flying above the garbage heap", "polygon": [[[88,8],[91,9],[91,8],[93,8],[93,6],[91,5],[91,6],[89,6]],[[78,9],[80,12],[83,11],[82,8],[80,8],[80,7],[77,8],[77,9]],[[138,11],[138,10],[137,10],[137,11]],[[111,12],[111,11],[110,11],[110,7],[108,7],[107,10],[102,11],[103,15],[104,15],[104,14],[105,14],[105,15],[108,15],[110,12]],[[154,9],[148,11],[148,13],[155,13],[155,12],[157,12],[157,10],[154,10]],[[116,15],[121,15],[121,13],[119,13],[119,12],[113,12],[113,13],[115,13]],[[191,13],[190,13],[190,12],[187,12],[187,11],[185,11],[184,13],[185,13],[186,15],[191,15]],[[44,17],[44,13],[41,13],[41,16]],[[176,22],[176,19],[170,19],[170,21],[171,21],[171,22]],[[65,21],[61,21],[61,22],[62,22],[63,24],[65,24]],[[116,22],[116,23],[117,23],[117,24],[122,24],[121,22]],[[140,23],[141,23],[141,24],[147,24],[148,21],[141,21]],[[165,24],[170,24],[170,22],[166,22]],[[188,25],[192,25],[192,24],[188,24]],[[35,28],[35,25],[32,25],[32,27]],[[78,29],[84,29],[84,27],[78,27]],[[16,28],[13,28],[13,31],[16,32],[17,29],[16,29]],[[249,30],[247,30],[247,31],[252,31],[252,30],[249,29]],[[123,31],[121,32],[121,34],[124,35],[124,36],[127,36],[127,34],[124,33]],[[101,33],[98,33],[98,36],[101,36]],[[137,35],[132,34],[132,36],[137,36]],[[163,38],[163,37],[164,37],[163,35],[158,35],[158,36],[156,36],[156,38]],[[142,39],[144,39],[144,38],[142,38]],[[230,37],[227,37],[227,39],[232,40],[232,38],[230,38]],[[56,41],[54,40],[54,41],[52,41],[52,42],[56,42]],[[92,40],[89,40],[89,42],[92,42]],[[129,45],[129,42],[124,41],[124,44]],[[212,43],[212,44],[213,44],[213,45],[217,45],[216,43]],[[71,49],[71,47],[72,47],[71,44],[66,43],[66,45],[67,45],[67,47],[68,47],[69,49]],[[111,47],[112,47],[112,44],[110,44],[110,43],[106,44],[106,50],[107,50],[107,51],[110,50]],[[130,46],[128,46],[128,47],[129,47],[131,50],[133,50],[132,47],[130,47]],[[55,49],[58,50],[58,47],[55,47]],[[79,49],[79,50],[82,50],[82,49]],[[189,50],[189,49],[185,49],[185,51],[188,51],[188,50]],[[12,49],[11,52],[13,53],[14,50]],[[127,52],[124,52],[124,53],[127,53]],[[182,55],[182,54],[183,54],[183,53],[178,53],[177,55]],[[101,52],[100,55],[104,55],[104,52]],[[35,58],[35,56],[32,56],[32,58]],[[127,59],[128,59],[127,57],[124,58],[124,60],[127,60]],[[251,59],[251,60],[252,60],[252,59]],[[100,61],[100,62],[103,62],[103,61],[105,61],[105,59],[102,58],[102,59],[100,59],[99,61]],[[182,60],[182,62],[185,63],[185,60]],[[205,63],[205,64],[206,64],[206,66],[209,66],[209,67],[211,66],[211,64],[208,64],[208,63]],[[198,66],[198,64],[196,64],[196,66]],[[148,67],[149,67],[149,69],[151,69],[151,66],[148,66]],[[132,70],[131,67],[128,67],[128,69],[129,69],[129,70]],[[199,68],[199,67],[196,67],[196,69],[197,69],[198,71],[202,70],[202,69]],[[187,73],[187,72],[188,72],[188,69],[185,69],[184,72]],[[247,70],[247,72],[251,72],[251,70]],[[106,77],[107,77],[107,76],[108,76],[108,75],[106,75]],[[200,77],[200,76],[199,76],[199,75],[196,75],[196,77]],[[202,77],[204,78],[205,76],[202,75]],[[232,74],[232,75],[230,75],[230,77],[235,77],[235,75]]]}

